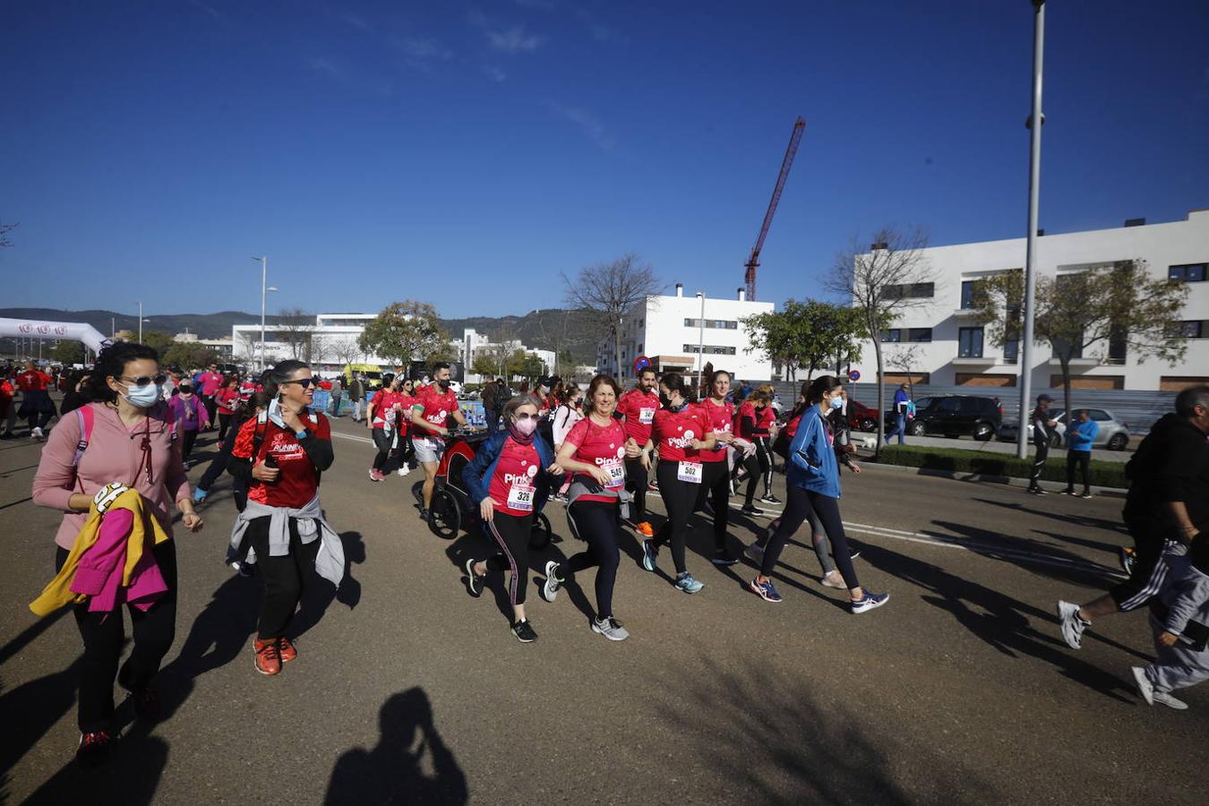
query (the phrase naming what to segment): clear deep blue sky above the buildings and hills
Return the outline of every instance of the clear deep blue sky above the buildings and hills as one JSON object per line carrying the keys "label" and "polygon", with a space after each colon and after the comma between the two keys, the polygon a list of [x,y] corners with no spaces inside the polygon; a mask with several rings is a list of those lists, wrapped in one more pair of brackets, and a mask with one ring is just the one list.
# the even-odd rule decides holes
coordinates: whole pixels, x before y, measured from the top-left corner
{"label": "clear deep blue sky above the buildings and hills", "polygon": [[[1051,0],[1041,225],[1209,207],[1209,2]],[[1028,0],[13,0],[0,307],[442,315],[634,251],[730,295],[794,117],[759,298],[854,236],[1025,228]],[[867,238],[864,238],[867,239]],[[15,282],[16,280],[16,282]]]}

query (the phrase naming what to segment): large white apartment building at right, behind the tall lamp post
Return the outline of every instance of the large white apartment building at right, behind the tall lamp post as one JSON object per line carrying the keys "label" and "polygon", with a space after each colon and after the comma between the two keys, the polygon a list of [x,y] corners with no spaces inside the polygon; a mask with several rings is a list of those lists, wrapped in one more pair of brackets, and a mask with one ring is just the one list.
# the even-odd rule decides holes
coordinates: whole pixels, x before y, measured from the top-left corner
{"label": "large white apartment building at right, behind the tall lamp post", "polygon": [[[903,289],[926,302],[907,308],[881,334],[887,383],[907,381],[909,375],[914,383],[1017,385],[1019,344],[997,347],[984,337],[974,320],[971,292],[979,278],[1023,268],[1025,242],[1013,238],[924,250],[936,282]],[[1047,234],[1036,243],[1039,277],[1144,260],[1153,279],[1174,278],[1190,288],[1180,325],[1188,340],[1181,365],[1155,358],[1139,361],[1122,343],[1098,343],[1072,361],[1072,388],[1179,390],[1209,383],[1209,210],[1193,210],[1184,221],[1147,225],[1138,219],[1112,230]],[[895,366],[895,356],[912,348],[916,360],[909,367]],[[872,344],[866,343],[861,363],[852,369],[869,381],[877,377]],[[1030,371],[1034,388],[1062,385],[1062,367],[1048,344],[1034,344]]]}

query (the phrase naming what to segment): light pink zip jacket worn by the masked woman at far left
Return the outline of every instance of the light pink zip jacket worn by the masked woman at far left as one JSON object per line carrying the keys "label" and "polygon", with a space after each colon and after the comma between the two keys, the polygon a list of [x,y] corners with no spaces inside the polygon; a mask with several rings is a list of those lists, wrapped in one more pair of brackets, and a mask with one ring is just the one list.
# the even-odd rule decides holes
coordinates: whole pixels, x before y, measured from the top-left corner
{"label": "light pink zip jacket worn by the masked woman at far left", "polygon": [[[75,537],[88,518],[87,512],[71,512],[73,493],[96,495],[111,481],[122,481],[139,491],[163,530],[172,537],[172,504],[189,498],[189,480],[180,460],[180,443],[172,439],[167,405],[157,405],[145,421],[127,428],[117,411],[104,404],[88,404],[93,410],[92,437],[80,459],[79,481],[71,466],[80,442],[80,419],[64,417],[51,430],[42,446],[42,459],[34,476],[34,503],[63,510],[63,522],[54,543],[71,550]],[[143,468],[143,434],[150,425],[151,481]],[[83,489],[81,489],[81,486]]]}

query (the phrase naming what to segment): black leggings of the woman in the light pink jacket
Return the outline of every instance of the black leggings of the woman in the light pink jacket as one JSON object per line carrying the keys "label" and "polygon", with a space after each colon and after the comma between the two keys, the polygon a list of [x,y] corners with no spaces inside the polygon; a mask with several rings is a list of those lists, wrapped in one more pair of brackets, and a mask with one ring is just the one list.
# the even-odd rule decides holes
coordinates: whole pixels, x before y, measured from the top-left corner
{"label": "black leggings of the woman in the light pink jacket", "polygon": [[[58,547],[54,569],[63,568],[68,550]],[[76,604],[76,626],[83,638],[80,663],[80,708],[77,719],[81,732],[114,727],[114,680],[128,691],[141,691],[160,671],[160,662],[168,654],[177,631],[177,544],[161,543],[152,550],[168,592],[146,610],[127,605],[134,648],[118,671],[126,632],[122,609],[112,613],[89,613],[88,603]]]}

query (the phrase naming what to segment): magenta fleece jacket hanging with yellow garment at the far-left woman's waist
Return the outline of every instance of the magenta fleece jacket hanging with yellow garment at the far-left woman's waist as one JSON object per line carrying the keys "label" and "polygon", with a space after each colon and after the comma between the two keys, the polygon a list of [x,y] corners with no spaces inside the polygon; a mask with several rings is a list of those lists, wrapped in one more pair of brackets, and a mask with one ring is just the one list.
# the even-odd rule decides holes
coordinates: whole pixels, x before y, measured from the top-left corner
{"label": "magenta fleece jacket hanging with yellow garment at the far-left woman's waist", "polygon": [[129,587],[122,587],[126,568],[127,539],[134,524],[134,512],[115,509],[100,521],[97,543],[80,557],[75,576],[71,578],[73,593],[87,593],[88,610],[109,613],[122,602],[140,610],[149,609],[168,591],[163,574],[151,556],[154,535],[144,535],[143,553],[131,574]]}

